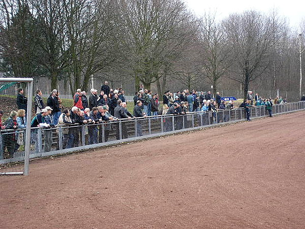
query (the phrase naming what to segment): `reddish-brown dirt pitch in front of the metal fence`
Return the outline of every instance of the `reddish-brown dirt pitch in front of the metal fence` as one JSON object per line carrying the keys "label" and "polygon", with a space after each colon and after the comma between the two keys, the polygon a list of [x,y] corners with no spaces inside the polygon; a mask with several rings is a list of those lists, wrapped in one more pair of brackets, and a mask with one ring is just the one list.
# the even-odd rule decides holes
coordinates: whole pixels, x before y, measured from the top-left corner
{"label": "reddish-brown dirt pitch in front of the metal fence", "polygon": [[32,161],[0,177],[0,227],[304,228],[304,118]]}

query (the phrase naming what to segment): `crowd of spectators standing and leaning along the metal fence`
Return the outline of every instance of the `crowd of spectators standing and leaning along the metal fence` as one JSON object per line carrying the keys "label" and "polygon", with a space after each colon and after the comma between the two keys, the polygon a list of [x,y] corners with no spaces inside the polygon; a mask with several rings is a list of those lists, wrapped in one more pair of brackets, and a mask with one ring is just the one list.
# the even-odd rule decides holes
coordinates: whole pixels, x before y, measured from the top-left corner
{"label": "crowd of spectators standing and leaning along the metal fence", "polygon": [[[11,134],[4,135],[4,149],[7,149],[9,156],[12,156],[24,142],[23,132],[18,131],[18,129],[24,129],[27,122],[25,118],[27,98],[24,97],[23,93],[23,89],[18,90],[18,111],[12,111],[5,123],[2,121],[3,111],[0,110],[1,130],[17,130]],[[247,120],[250,120],[251,107],[253,106],[264,106],[269,116],[272,117],[272,105],[285,103],[282,97],[277,96],[271,100],[271,98],[262,99],[258,93],[255,94],[255,97],[252,94],[249,91],[247,99],[239,106],[244,108]],[[83,124],[87,125],[88,144],[97,144],[108,141],[110,130],[115,131],[116,139],[128,138],[126,122],[115,122],[120,119],[130,120],[157,115],[181,116],[181,118],[176,118],[175,122],[178,122],[177,128],[182,128],[181,123],[187,123],[187,120],[182,122],[182,119],[186,119],[183,115],[189,112],[200,111],[207,113],[209,123],[216,123],[221,119],[224,122],[229,120],[229,116],[226,113],[223,113],[223,117],[220,117],[217,111],[233,109],[233,101],[222,100],[220,93],[217,92],[214,99],[209,91],[198,93],[195,90],[191,92],[184,90],[174,94],[166,91],[163,95],[163,105],[161,107],[158,93],[144,89],[144,86],[141,84],[139,91],[136,92],[133,98],[134,109],[133,113],[131,113],[127,109],[125,91],[121,88],[110,89],[107,81],[102,85],[100,93],[96,89],[91,89],[88,98],[86,92],[77,89],[73,96],[73,106],[71,109],[63,107],[60,93],[55,89],[47,98],[46,104],[44,104],[41,96],[42,91],[37,90],[34,99],[36,114],[31,120],[31,127],[42,128],[44,135],[43,150],[45,152],[52,149],[52,128],[56,125],[62,125],[63,149],[67,149],[80,145],[81,135],[83,134],[81,125]],[[303,97],[305,100],[305,95]],[[98,125],[101,123],[104,123],[104,125]],[[141,120],[137,121],[135,125],[137,136],[141,136],[143,134]],[[164,126],[165,131],[171,131],[173,119],[165,120]],[[37,133],[37,128],[34,128],[31,132],[31,141],[35,145],[36,152],[38,152],[39,148]]]}

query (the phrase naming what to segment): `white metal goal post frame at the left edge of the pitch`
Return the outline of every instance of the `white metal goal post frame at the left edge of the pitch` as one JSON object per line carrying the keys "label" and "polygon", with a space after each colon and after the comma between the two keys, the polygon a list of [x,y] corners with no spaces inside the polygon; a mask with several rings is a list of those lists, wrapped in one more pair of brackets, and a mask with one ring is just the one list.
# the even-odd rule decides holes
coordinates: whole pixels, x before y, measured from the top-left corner
{"label": "white metal goal post frame at the left edge of the pitch", "polygon": [[29,174],[29,151],[31,144],[31,120],[32,120],[32,97],[33,97],[33,78],[0,78],[0,82],[26,82],[27,83],[27,112],[24,148],[24,170],[23,172],[0,173],[0,175],[25,175]]}

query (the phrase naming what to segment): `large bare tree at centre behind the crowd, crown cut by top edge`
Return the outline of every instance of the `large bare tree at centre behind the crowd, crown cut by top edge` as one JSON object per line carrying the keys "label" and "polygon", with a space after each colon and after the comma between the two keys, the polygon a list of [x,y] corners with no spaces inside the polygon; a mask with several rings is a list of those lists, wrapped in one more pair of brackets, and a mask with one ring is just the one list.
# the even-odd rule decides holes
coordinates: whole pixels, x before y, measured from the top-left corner
{"label": "large bare tree at centre behind the crowd, crown cut by top edge", "polygon": [[190,13],[180,0],[121,0],[120,8],[136,88],[141,81],[149,89],[162,76],[163,63],[188,42],[184,25]]}

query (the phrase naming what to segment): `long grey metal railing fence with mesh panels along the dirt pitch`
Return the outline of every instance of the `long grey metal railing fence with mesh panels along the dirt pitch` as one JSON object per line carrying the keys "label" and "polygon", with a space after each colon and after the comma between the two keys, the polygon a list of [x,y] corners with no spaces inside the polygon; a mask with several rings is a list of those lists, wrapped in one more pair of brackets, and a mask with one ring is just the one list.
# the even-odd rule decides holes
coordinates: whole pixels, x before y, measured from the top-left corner
{"label": "long grey metal railing fence with mesh panels along the dirt pitch", "polygon": [[[273,114],[305,109],[305,102],[276,104]],[[268,115],[265,106],[251,108],[251,117]],[[235,108],[218,112],[191,112],[187,115],[151,116],[122,119],[93,125],[58,125],[56,128],[31,128],[30,158],[39,158],[73,151],[92,149],[124,141],[161,136],[186,130],[245,120],[245,109]],[[23,161],[25,129],[0,132],[0,164]]]}

